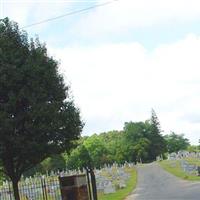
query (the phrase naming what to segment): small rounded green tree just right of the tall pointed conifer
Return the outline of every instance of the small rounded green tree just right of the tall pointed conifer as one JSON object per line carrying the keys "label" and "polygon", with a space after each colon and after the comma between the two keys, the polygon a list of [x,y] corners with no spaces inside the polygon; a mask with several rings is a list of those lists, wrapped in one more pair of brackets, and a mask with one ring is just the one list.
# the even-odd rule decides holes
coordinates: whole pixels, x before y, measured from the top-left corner
{"label": "small rounded green tree just right of the tall pointed conifer", "polygon": [[169,153],[186,150],[190,145],[189,140],[184,138],[184,134],[178,135],[171,132],[171,134],[165,135],[164,138],[167,143],[167,151]]}

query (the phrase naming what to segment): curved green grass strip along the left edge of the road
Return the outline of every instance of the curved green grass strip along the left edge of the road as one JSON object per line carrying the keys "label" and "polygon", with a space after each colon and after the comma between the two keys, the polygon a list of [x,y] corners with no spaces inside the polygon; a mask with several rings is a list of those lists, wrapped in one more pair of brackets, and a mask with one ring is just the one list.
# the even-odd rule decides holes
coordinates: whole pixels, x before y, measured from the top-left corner
{"label": "curved green grass strip along the left edge of the road", "polygon": [[99,200],[123,200],[125,197],[129,195],[130,192],[132,192],[137,183],[137,172],[135,168],[128,168],[125,170],[126,172],[130,173],[130,178],[127,181],[127,185],[123,189],[119,189],[116,191],[116,193],[112,194],[99,194],[98,199]]}

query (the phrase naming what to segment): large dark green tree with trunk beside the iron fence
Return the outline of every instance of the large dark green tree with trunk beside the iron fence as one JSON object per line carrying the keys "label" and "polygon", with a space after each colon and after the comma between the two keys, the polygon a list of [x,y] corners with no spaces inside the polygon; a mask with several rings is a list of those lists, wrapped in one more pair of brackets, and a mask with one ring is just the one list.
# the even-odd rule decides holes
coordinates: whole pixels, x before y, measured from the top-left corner
{"label": "large dark green tree with trunk beside the iron fence", "polygon": [[57,61],[16,23],[0,20],[0,160],[16,200],[22,173],[69,150],[81,130]]}

